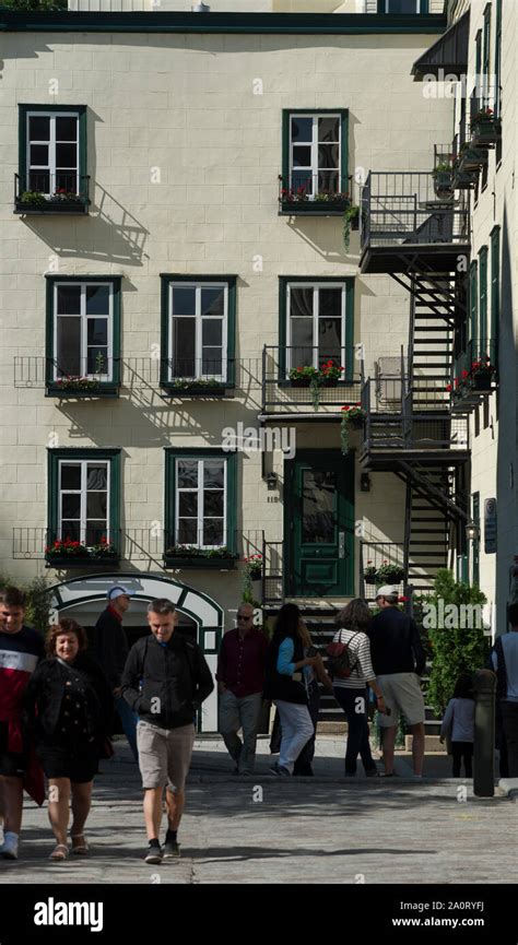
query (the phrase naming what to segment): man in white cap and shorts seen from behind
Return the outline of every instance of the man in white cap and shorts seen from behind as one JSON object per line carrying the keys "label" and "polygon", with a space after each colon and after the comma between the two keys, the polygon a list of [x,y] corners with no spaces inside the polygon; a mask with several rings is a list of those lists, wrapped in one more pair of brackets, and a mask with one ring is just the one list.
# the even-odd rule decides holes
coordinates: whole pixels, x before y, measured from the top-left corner
{"label": "man in white cap and shorts seen from behind", "polygon": [[393,749],[399,717],[402,713],[412,733],[414,775],[423,775],[424,699],[419,677],[426,657],[417,627],[398,609],[398,589],[385,584],[376,594],[380,613],[373,617],[367,635],[378,685],[384,694],[387,714],[379,717],[384,730],[385,777],[393,777]]}

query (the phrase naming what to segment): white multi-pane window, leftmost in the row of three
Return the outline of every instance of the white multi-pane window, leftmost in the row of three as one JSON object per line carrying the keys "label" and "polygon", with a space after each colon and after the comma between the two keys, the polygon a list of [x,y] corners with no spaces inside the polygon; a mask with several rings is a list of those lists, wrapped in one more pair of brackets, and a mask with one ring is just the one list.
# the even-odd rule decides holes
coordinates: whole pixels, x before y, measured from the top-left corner
{"label": "white multi-pane window, leftmost in the row of three", "polygon": [[54,283],[54,379],[113,377],[114,285]]}

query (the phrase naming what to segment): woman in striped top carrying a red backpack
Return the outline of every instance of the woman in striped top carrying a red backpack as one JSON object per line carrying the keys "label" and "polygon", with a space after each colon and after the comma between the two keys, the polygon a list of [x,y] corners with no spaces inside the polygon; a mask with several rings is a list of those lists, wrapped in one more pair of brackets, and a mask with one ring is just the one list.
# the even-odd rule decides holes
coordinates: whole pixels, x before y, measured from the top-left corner
{"label": "woman in striped top carrying a red backpack", "polygon": [[368,741],[368,690],[376,695],[377,707],[385,712],[385,701],[370,662],[370,646],[366,634],[370,624],[370,611],[365,601],[356,598],[338,615],[339,628],[327,649],[327,670],[333,680],[334,698],[342,707],[348,720],[345,749],[345,777],[356,775],[360,755],[367,778],[378,775]]}

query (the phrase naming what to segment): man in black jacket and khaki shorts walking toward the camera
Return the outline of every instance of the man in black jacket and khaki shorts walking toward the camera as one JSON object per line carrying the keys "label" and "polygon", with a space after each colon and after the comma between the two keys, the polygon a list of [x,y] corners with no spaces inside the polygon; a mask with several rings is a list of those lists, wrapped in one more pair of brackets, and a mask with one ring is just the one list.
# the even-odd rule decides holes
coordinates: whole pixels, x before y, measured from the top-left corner
{"label": "man in black jacket and khaki shorts walking toward the camera", "polygon": [[[122,695],[140,717],[137,742],[149,840],[146,863],[180,855],[177,832],[195,742],[195,714],[214,688],[200,647],[175,633],[177,622],[172,601],[152,601],[148,607],[151,636],[131,648],[122,674]],[[168,829],[162,850],[164,787]]]}

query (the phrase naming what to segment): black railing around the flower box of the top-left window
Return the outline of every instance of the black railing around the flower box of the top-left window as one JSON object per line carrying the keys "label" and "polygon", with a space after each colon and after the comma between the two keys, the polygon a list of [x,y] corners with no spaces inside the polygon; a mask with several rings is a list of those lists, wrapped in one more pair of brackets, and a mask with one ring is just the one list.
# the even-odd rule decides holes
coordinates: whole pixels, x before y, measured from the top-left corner
{"label": "black railing around the flower box of the top-left window", "polygon": [[85,213],[90,176],[75,170],[28,170],[14,175],[14,208],[23,213]]}

